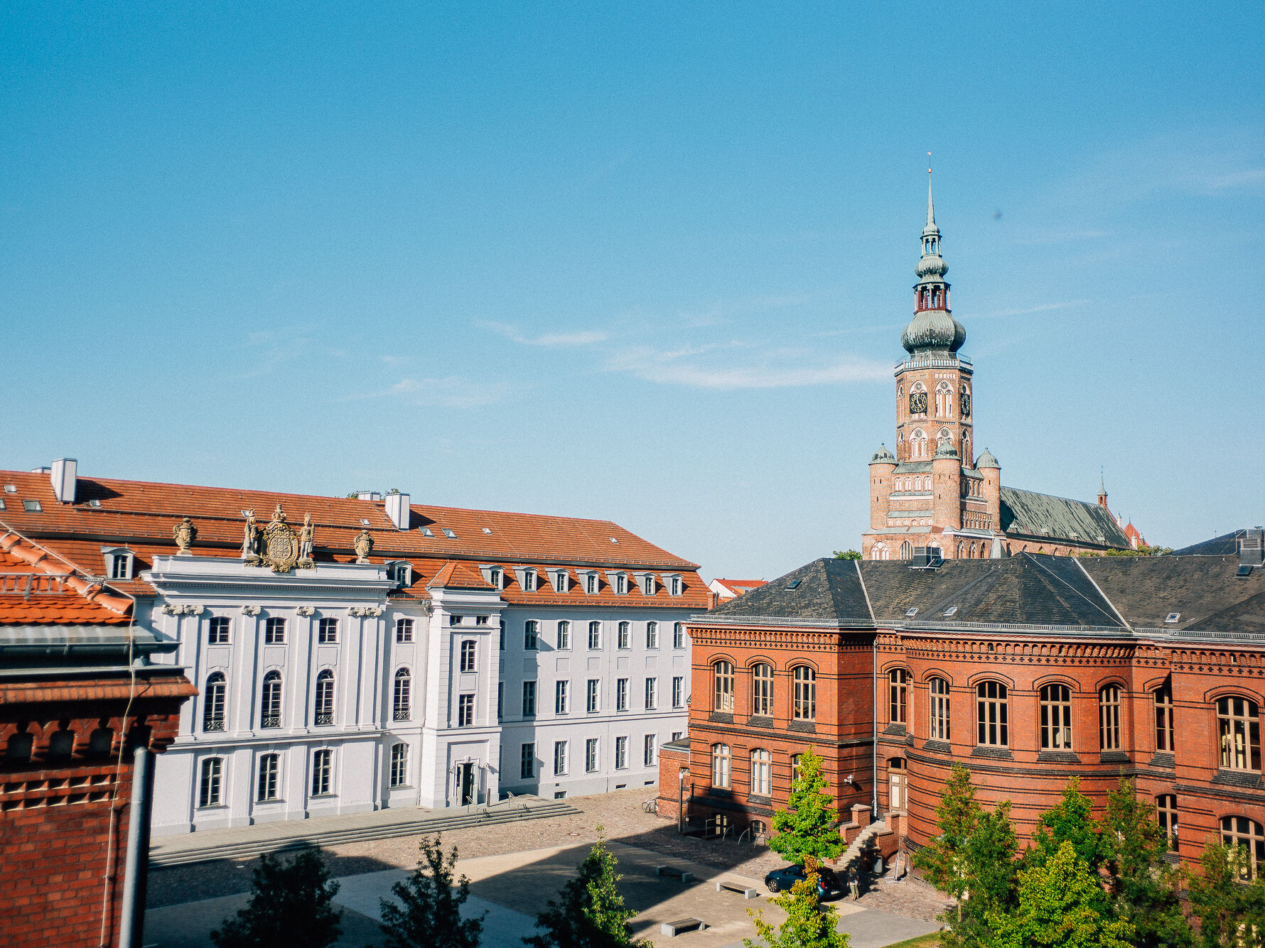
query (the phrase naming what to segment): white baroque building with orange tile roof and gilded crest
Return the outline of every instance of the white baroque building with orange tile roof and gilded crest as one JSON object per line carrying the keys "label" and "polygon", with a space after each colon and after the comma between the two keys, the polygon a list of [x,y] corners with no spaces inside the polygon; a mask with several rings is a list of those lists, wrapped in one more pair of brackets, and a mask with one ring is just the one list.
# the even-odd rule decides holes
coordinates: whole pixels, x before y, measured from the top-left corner
{"label": "white baroque building with orange tile roof and gilded crest", "polygon": [[76,466],[0,471],[0,522],[177,643],[162,661],[199,695],[158,761],[156,834],[650,786],[686,729],[707,589],[614,523]]}

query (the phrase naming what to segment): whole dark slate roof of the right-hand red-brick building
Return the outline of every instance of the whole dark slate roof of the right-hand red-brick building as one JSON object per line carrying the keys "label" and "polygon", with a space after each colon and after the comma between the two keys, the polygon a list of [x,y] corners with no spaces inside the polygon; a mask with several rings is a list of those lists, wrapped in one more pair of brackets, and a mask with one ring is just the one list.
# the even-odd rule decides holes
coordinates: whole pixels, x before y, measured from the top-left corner
{"label": "whole dark slate roof of the right-hand red-brick building", "polygon": [[[1046,556],[908,561],[821,559],[701,621],[842,628],[1054,626],[1070,629],[1265,635],[1265,570],[1240,578],[1235,556]],[[796,583],[798,580],[798,583]],[[949,616],[945,613],[956,607]],[[913,616],[910,609],[917,609]],[[1170,613],[1178,622],[1166,623]]]}

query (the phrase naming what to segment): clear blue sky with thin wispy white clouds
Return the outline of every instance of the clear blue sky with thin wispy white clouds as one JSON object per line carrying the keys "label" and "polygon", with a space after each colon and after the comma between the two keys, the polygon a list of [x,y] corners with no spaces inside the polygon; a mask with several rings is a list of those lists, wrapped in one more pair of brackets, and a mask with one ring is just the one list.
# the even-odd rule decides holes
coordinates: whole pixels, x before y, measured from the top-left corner
{"label": "clear blue sky with thin wispy white clouds", "polygon": [[1260,522],[1260,4],[11,4],[0,466],[858,546],[932,152],[977,446]]}

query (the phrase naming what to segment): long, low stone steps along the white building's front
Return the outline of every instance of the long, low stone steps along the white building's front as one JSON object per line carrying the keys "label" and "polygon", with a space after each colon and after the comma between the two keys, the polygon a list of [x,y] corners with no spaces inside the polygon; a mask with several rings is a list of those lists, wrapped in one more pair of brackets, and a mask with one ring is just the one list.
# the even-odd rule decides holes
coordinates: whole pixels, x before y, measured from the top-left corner
{"label": "long, low stone steps along the white building's front", "polygon": [[472,813],[453,814],[450,817],[429,817],[407,823],[386,823],[377,827],[357,827],[354,829],[329,829],[309,836],[244,839],[173,852],[157,852],[151,853],[149,866],[151,868],[162,868],[166,866],[188,866],[196,862],[211,862],[215,860],[242,860],[266,852],[290,852],[314,846],[340,846],[343,843],[359,843],[371,839],[441,833],[467,827],[488,827],[501,823],[516,823],[519,820],[545,819],[548,817],[568,817],[574,813],[579,813],[579,810],[569,804],[553,801],[505,810],[479,809]]}

